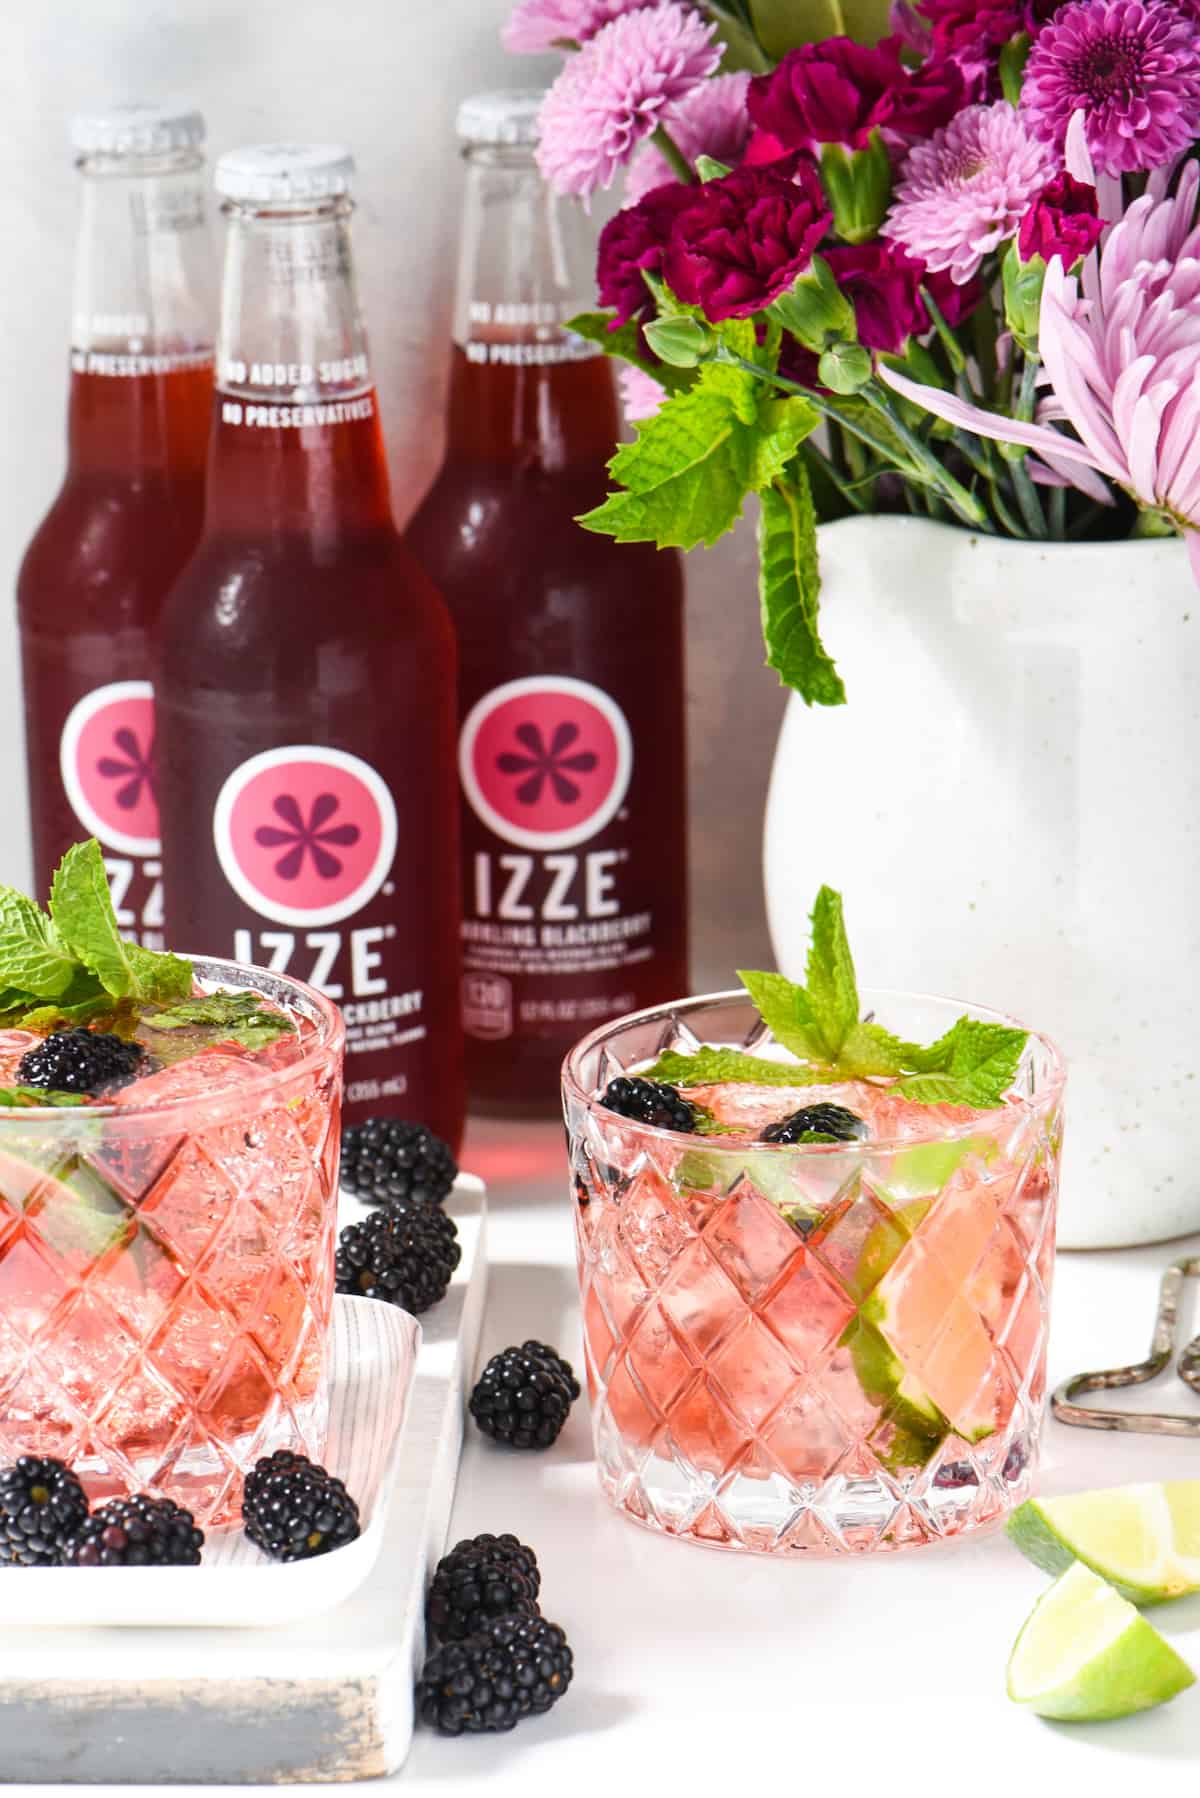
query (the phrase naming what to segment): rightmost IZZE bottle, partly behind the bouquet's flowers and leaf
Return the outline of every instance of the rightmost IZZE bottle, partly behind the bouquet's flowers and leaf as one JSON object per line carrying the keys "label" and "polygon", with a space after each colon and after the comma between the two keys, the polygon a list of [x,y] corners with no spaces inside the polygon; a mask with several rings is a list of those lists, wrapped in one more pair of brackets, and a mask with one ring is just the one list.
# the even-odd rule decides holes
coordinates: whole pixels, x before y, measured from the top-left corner
{"label": "rightmost IZZE bottle, partly behind the bouquet's flowers and leaf", "polygon": [[538,176],[536,110],[459,113],[446,457],[408,527],[459,631],[470,1088],[511,1113],[558,1104],[585,1030],[687,992],[680,561],[576,523],[619,424],[608,360],[563,329],[592,241]]}

